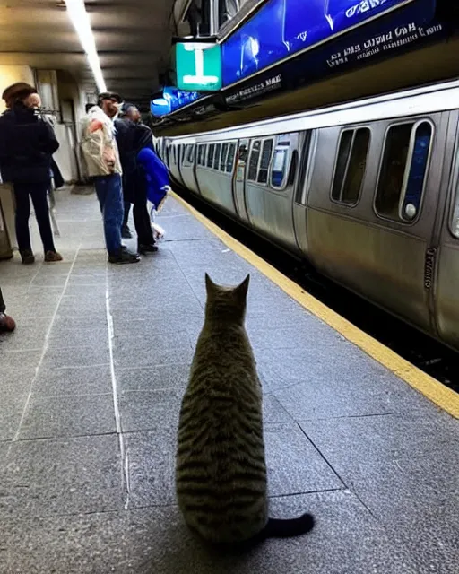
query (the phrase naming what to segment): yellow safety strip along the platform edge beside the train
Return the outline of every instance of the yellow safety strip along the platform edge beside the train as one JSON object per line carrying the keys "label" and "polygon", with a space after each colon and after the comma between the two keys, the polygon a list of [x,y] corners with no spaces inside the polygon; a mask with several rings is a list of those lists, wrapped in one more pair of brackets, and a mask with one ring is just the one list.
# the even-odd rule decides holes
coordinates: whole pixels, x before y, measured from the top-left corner
{"label": "yellow safety strip along the platform edge beside the train", "polygon": [[455,393],[455,391],[445,387],[445,385],[439,383],[435,378],[430,377],[422,370],[411,365],[411,362],[405,361],[394,351],[385,347],[384,344],[379,343],[376,339],[361,331],[357,326],[352,325],[347,319],[326,307],[324,303],[316,300],[315,297],[301,289],[297,283],[294,283],[288,277],[281,274],[273,265],[266,263],[264,259],[258,257],[237,239],[232,238],[226,231],[208,220],[202,213],[196,211],[194,207],[187,204],[186,201],[177,194],[172,193],[171,195],[178,203],[184,205],[208,230],[212,231],[214,235],[221,239],[225,245],[235,251],[240,257],[246,259],[248,263],[254,265],[256,269],[273,281],[273,283],[276,283],[282,291],[285,291],[302,307],[325,321],[327,325],[333,327],[335,331],[348,339],[348,341],[356,344],[362,351],[384,365],[386,369],[394,372],[397,377],[402,378],[406,383],[411,385],[411,387],[422,393],[422,395],[427,396],[430,401],[444,409],[446,413],[459,419],[459,395]]}

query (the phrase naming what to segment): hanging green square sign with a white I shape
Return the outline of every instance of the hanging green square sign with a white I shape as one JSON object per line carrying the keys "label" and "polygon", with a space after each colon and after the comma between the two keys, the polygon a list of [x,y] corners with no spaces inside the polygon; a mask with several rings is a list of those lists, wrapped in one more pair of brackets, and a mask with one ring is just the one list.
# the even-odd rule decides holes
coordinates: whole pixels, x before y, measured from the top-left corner
{"label": "hanging green square sign with a white I shape", "polygon": [[176,67],[179,90],[221,90],[220,44],[201,42],[176,44]]}

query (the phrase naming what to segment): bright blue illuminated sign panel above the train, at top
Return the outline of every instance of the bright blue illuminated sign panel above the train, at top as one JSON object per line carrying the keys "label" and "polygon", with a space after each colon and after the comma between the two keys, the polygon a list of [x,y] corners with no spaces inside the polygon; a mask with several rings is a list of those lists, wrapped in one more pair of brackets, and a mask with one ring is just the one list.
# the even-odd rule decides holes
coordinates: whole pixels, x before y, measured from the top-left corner
{"label": "bright blue illuminated sign panel above the train, at top", "polygon": [[[222,46],[223,85],[417,0],[270,0]],[[425,9],[426,2],[421,2]],[[435,0],[429,0],[429,13]]]}

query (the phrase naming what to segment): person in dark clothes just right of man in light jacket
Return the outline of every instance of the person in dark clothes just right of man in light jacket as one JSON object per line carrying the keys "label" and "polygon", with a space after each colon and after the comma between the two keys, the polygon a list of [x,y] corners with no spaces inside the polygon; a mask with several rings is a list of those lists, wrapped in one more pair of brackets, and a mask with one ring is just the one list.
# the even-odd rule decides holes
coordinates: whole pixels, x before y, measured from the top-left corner
{"label": "person in dark clothes just right of man in light jacket", "polygon": [[[127,110],[130,112],[129,114]],[[139,253],[145,255],[158,251],[158,248],[154,244],[152,222],[147,210],[145,173],[136,158],[145,144],[152,143],[152,131],[139,121],[131,119],[131,117],[136,117],[135,111],[140,117],[138,109],[128,104],[127,109],[125,107],[121,117],[116,120],[115,127],[119,157],[123,167],[123,193],[125,201],[134,204],[133,215],[137,233],[137,248]]]}

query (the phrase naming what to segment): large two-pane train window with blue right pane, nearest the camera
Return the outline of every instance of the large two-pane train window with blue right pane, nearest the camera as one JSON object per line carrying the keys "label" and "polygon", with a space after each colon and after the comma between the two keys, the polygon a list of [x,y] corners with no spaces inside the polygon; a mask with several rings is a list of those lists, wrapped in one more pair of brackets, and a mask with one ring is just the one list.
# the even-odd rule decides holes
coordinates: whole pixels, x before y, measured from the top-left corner
{"label": "large two-pane train window with blue right pane, nearest the camera", "polygon": [[425,120],[387,131],[375,200],[379,215],[412,222],[419,214],[432,135],[433,126]]}

